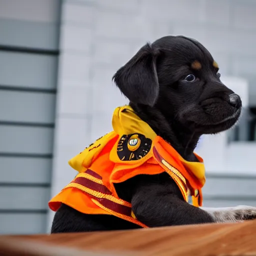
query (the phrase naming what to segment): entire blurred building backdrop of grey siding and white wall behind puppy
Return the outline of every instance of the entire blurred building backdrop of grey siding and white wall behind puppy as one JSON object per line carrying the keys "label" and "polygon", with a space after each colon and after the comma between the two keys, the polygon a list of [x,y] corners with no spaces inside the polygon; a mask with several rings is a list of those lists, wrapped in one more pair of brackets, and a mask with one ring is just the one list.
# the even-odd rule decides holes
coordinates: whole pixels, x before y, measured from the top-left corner
{"label": "entire blurred building backdrop of grey siding and white wall behind puppy", "polygon": [[44,233],[68,159],[127,103],[111,77],[145,42],[200,41],[243,101],[239,125],[203,136],[204,206],[256,206],[255,0],[0,0],[0,233]]}

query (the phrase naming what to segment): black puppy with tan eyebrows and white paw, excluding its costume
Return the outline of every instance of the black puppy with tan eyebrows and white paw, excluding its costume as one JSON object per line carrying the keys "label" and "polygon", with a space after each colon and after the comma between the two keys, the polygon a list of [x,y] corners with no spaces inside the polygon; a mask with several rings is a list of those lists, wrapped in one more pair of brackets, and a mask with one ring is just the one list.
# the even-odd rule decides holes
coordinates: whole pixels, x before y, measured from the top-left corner
{"label": "black puppy with tan eyebrows and white paw, excluding its costume", "polygon": [[[202,134],[233,126],[241,112],[240,97],[220,81],[218,65],[194,39],[165,36],[145,44],[113,76],[136,114],[187,161]],[[256,217],[256,208],[199,208],[185,202],[166,172],[137,175],[115,184],[120,198],[131,202],[137,219],[149,227],[240,221]],[[163,210],[164,209],[164,210]],[[112,215],[83,214],[62,204],[51,232],[139,228]]]}

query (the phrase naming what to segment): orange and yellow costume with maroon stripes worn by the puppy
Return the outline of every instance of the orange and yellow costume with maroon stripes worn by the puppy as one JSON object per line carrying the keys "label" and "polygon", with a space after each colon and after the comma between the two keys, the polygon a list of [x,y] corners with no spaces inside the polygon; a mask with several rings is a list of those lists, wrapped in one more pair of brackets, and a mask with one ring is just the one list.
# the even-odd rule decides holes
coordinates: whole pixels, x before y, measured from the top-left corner
{"label": "orange and yellow costume with maroon stripes worn by the puppy", "polygon": [[147,227],[138,221],[131,203],[118,197],[114,183],[138,174],[167,172],[178,185],[183,198],[192,195],[194,206],[201,206],[204,165],[188,162],[128,106],[117,107],[112,117],[113,131],[97,139],[68,161],[78,171],[48,203],[56,211],[61,203],[87,214],[112,214]]}

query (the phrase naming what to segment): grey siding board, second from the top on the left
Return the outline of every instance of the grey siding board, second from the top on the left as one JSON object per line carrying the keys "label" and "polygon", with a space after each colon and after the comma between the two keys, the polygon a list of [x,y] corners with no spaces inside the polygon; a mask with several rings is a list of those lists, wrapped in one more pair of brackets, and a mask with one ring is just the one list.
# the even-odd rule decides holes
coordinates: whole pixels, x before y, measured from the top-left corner
{"label": "grey siding board, second from the top on the left", "polygon": [[0,51],[0,86],[53,89],[56,78],[57,56]]}

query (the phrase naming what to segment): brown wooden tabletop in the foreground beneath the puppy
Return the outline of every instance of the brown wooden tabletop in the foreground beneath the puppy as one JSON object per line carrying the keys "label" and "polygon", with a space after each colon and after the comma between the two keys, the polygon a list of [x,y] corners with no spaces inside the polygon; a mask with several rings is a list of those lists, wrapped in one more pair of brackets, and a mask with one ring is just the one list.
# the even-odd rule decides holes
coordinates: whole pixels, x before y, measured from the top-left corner
{"label": "brown wooden tabletop in the foreground beneath the puppy", "polygon": [[0,236],[0,255],[256,255],[256,220],[128,231]]}

